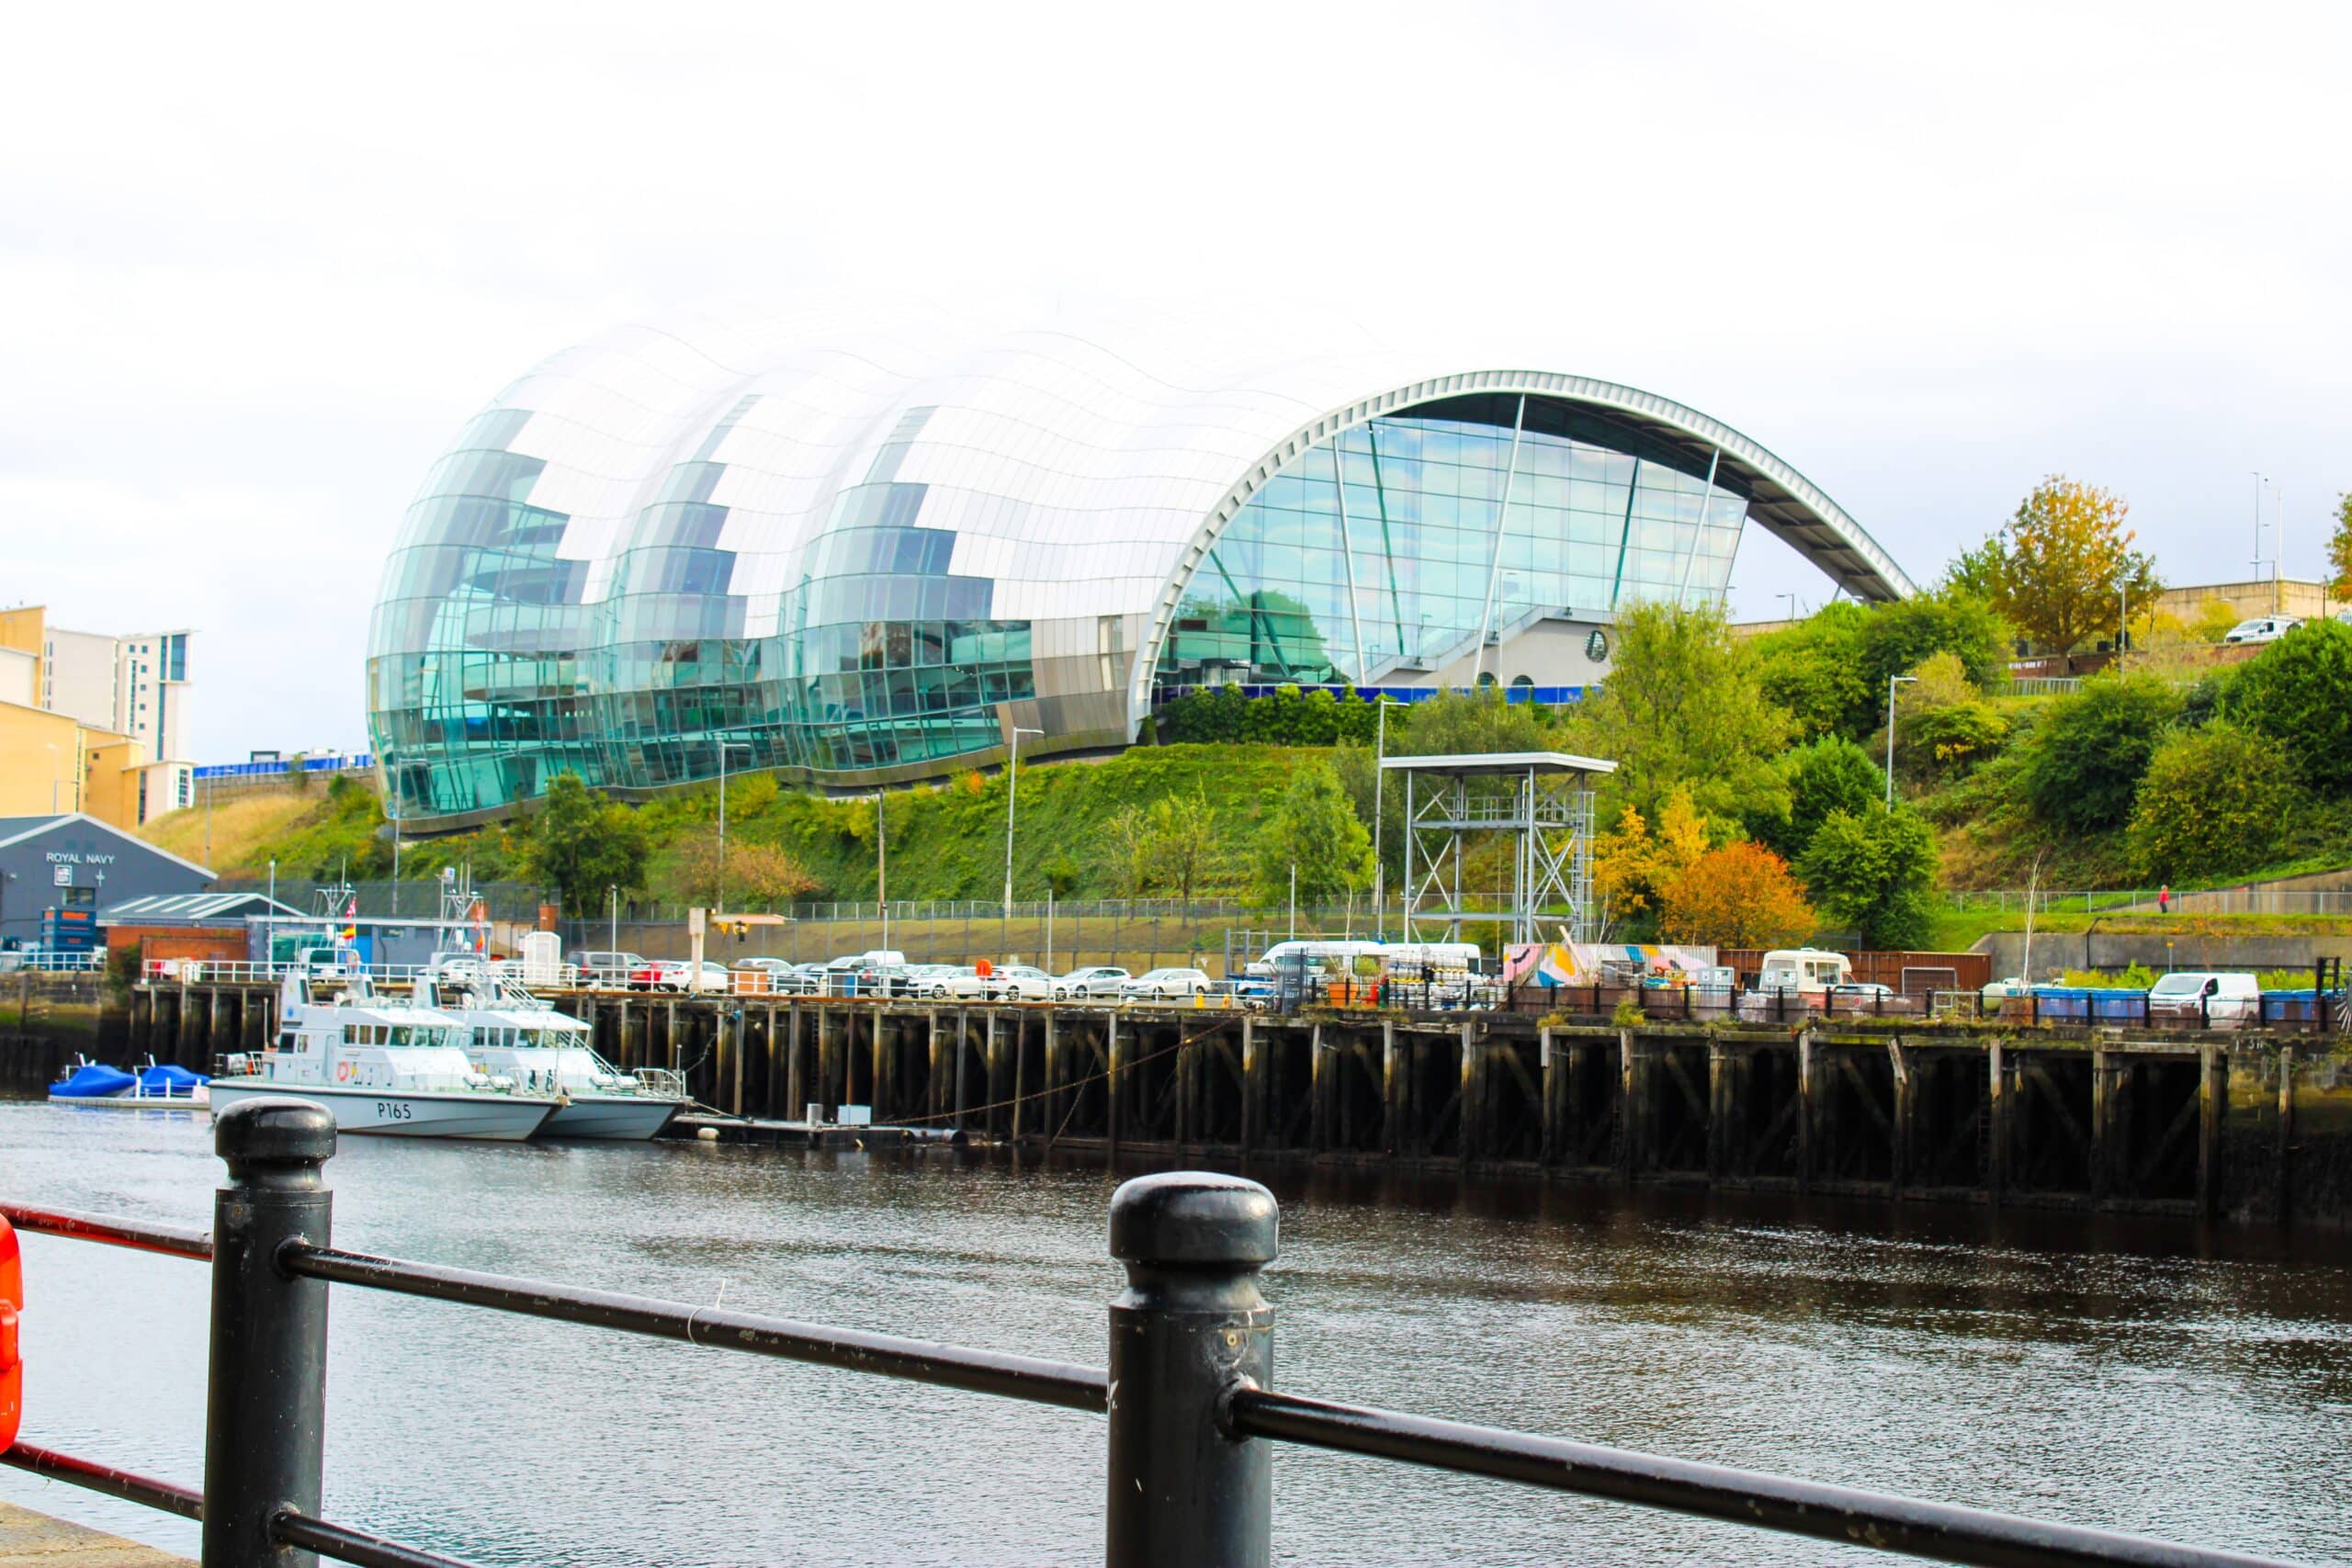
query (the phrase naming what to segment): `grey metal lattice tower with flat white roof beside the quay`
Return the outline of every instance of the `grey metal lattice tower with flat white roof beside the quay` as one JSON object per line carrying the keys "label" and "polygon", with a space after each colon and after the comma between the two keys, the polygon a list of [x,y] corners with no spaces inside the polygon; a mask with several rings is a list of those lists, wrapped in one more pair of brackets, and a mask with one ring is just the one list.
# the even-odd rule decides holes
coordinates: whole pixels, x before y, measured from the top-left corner
{"label": "grey metal lattice tower with flat white roof beside the quay", "polygon": [[[1501,922],[1503,940],[1534,943],[1538,924],[1566,924],[1571,943],[1592,919],[1592,780],[1613,762],[1566,752],[1383,757],[1404,773],[1404,940],[1442,924]],[[1463,907],[1463,849],[1472,837],[1512,839],[1510,891],[1498,910]],[[1475,891],[1475,889],[1472,889]]]}

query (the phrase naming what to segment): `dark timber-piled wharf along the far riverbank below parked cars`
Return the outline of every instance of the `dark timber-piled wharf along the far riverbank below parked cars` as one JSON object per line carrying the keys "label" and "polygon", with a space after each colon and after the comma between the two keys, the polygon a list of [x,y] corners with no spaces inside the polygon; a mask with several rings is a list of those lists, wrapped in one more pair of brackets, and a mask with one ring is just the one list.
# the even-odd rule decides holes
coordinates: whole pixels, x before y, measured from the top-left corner
{"label": "dark timber-piled wharf along the far riverbank below parked cars", "polygon": [[[1508,1011],[943,1004],[548,992],[621,1067],[717,1117],[870,1107],[877,1128],[1110,1159],[1312,1159],[1588,1182],[2343,1225],[2352,1056],[2336,1032],[1936,1018],[1651,1020]],[[207,1067],[270,1037],[275,987],[141,980],[132,1056]],[[901,1133],[903,1138],[903,1133]]]}

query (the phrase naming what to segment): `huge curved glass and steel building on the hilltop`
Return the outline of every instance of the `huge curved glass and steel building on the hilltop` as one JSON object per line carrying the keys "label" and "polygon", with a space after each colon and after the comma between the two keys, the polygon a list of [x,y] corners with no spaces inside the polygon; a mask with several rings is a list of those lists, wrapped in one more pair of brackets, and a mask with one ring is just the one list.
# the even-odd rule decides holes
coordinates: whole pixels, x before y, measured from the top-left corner
{"label": "huge curved glass and steel building on the hilltop", "polygon": [[1693,409],[1195,322],[960,339],[626,327],[426,475],[369,628],[402,820],[727,771],[870,788],[1124,745],[1223,682],[1583,686],[1635,599],[1724,592],[1757,522],[1863,599],[1903,571]]}

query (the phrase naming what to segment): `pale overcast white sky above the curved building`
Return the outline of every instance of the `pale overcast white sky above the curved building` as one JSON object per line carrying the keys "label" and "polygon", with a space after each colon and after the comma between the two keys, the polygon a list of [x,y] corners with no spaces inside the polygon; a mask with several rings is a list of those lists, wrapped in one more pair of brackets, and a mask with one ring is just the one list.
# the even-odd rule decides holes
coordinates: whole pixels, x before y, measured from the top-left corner
{"label": "pale overcast white sky above the curved building", "polygon": [[[1663,393],[1922,581],[2037,480],[2176,583],[2352,489],[2352,7],[21,7],[0,604],[195,628],[198,762],[365,748],[459,425],[715,301],[1312,310]],[[2256,475],[2265,475],[2258,480]],[[2267,571],[2267,567],[2265,567]],[[1828,578],[1762,529],[1740,618]]]}

